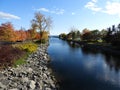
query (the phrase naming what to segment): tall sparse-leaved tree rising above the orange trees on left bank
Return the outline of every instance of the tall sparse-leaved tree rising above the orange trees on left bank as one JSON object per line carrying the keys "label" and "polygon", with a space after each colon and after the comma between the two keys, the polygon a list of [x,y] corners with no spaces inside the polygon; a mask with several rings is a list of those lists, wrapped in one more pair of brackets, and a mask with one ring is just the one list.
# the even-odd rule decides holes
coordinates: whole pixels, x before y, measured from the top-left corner
{"label": "tall sparse-leaved tree rising above the orange trees on left bank", "polygon": [[[52,25],[52,20],[51,17],[45,17],[45,15],[41,14],[40,12],[35,13],[34,19],[31,21],[32,23],[32,28],[37,29],[40,31],[40,36],[43,37],[43,33],[45,31],[49,32],[51,25]],[[42,40],[44,38],[41,38]]]}

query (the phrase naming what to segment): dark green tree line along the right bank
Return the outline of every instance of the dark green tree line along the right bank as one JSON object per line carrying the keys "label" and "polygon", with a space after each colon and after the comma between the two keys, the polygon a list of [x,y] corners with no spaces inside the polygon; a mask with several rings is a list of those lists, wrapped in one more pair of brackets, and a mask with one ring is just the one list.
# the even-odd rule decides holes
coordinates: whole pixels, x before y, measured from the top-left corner
{"label": "dark green tree line along the right bank", "polygon": [[89,30],[85,28],[80,32],[75,27],[72,27],[68,34],[62,33],[59,37],[65,40],[106,43],[115,47],[120,47],[120,24],[117,26],[112,25],[101,31],[98,29]]}

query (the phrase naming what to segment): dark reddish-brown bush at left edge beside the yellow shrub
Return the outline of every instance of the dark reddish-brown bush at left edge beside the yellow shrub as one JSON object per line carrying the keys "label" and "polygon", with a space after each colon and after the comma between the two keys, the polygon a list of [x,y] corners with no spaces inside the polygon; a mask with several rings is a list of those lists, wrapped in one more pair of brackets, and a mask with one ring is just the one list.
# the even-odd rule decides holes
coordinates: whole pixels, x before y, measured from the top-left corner
{"label": "dark reddish-brown bush at left edge beside the yellow shrub", "polygon": [[0,46],[0,68],[12,66],[15,60],[24,56],[25,52],[10,45]]}

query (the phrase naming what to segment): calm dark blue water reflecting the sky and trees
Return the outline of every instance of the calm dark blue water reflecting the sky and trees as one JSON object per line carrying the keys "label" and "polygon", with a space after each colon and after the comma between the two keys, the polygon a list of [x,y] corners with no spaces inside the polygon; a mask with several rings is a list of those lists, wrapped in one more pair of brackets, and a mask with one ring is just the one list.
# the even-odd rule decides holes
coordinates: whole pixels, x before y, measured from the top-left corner
{"label": "calm dark blue water reflecting the sky and trees", "polygon": [[120,90],[120,59],[50,39],[48,53],[60,90]]}

